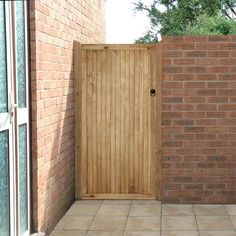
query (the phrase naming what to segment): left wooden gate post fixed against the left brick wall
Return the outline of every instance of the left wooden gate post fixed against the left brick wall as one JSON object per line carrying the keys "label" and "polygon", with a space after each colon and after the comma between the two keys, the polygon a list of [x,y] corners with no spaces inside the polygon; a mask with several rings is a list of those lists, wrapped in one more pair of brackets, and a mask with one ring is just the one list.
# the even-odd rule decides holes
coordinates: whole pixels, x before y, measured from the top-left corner
{"label": "left wooden gate post fixed against the left brick wall", "polygon": [[74,43],[74,83],[75,83],[75,198],[79,199],[82,191],[83,181],[80,179],[81,175],[81,164],[82,162],[82,150],[81,150],[81,44],[78,42]]}

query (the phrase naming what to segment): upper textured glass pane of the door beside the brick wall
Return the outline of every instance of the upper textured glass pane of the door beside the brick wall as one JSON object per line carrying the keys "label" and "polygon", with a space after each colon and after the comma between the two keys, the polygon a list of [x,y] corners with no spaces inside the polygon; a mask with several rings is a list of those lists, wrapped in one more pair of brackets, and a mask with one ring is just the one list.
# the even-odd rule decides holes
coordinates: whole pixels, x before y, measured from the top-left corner
{"label": "upper textured glass pane of the door beside the brick wall", "polygon": [[24,1],[15,1],[18,106],[26,107]]}

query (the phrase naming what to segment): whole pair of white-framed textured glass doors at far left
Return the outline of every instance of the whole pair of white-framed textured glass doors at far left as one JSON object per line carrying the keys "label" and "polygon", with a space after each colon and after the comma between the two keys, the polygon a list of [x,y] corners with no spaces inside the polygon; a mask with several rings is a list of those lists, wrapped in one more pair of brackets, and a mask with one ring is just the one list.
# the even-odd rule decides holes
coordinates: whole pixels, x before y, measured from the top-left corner
{"label": "whole pair of white-framed textured glass doors at far left", "polygon": [[26,1],[0,1],[0,235],[29,235]]}

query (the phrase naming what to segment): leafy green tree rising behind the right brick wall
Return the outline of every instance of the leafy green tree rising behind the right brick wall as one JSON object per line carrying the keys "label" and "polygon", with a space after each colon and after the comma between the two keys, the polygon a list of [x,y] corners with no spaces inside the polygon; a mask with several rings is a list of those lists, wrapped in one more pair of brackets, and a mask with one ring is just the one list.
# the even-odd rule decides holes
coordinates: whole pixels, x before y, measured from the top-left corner
{"label": "leafy green tree rising behind the right brick wall", "polygon": [[[158,41],[157,35],[236,34],[236,0],[142,0],[135,11],[145,12],[150,29],[137,43]],[[160,10],[161,9],[161,10]]]}

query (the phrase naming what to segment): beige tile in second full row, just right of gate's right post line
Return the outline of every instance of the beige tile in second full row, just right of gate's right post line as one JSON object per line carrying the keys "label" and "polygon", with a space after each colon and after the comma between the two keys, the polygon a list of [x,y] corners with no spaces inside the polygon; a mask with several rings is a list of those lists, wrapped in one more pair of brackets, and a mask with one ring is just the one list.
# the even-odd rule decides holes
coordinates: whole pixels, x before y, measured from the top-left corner
{"label": "beige tile in second full row, just right of gate's right post line", "polygon": [[194,216],[163,216],[163,230],[197,230],[197,224]]}

